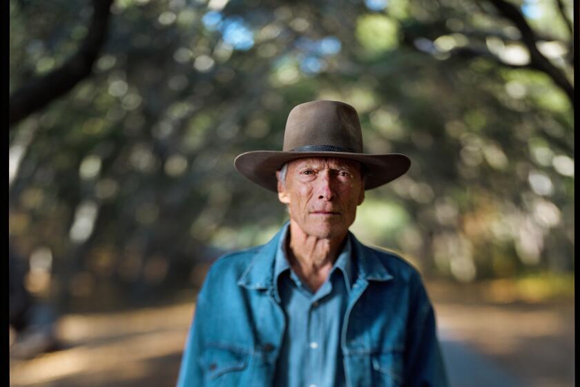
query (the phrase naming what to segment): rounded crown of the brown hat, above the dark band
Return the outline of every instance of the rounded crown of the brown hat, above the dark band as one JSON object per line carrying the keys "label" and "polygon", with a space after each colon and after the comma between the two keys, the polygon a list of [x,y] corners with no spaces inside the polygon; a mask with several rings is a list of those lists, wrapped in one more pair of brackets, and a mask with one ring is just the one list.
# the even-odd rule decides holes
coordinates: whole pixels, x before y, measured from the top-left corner
{"label": "rounded crown of the brown hat, above the dark band", "polygon": [[307,151],[309,147],[363,153],[363,133],[355,108],[327,100],[295,106],[286,122],[283,151]]}

